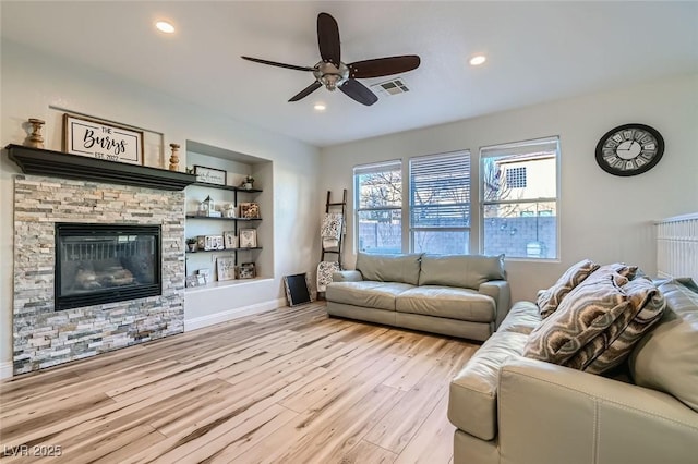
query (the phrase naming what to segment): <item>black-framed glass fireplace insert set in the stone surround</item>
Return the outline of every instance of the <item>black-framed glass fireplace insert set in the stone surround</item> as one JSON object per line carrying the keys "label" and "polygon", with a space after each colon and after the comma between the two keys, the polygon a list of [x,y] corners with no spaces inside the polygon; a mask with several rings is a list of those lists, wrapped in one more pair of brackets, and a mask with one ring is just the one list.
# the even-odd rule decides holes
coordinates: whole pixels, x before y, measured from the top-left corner
{"label": "black-framed glass fireplace insert set in the stone surround", "polygon": [[159,225],[56,224],[56,309],[161,291]]}

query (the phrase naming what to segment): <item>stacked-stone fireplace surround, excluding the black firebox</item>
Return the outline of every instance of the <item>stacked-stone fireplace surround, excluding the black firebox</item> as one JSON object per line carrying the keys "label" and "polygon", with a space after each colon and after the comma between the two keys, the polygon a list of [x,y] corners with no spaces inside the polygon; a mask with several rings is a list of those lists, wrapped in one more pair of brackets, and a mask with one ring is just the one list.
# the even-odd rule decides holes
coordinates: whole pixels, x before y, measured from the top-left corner
{"label": "stacked-stone fireplace surround, excluding the black firebox", "polygon": [[[56,222],[160,225],[163,294],[56,312]],[[15,375],[182,332],[184,193],[16,175],[13,302]]]}

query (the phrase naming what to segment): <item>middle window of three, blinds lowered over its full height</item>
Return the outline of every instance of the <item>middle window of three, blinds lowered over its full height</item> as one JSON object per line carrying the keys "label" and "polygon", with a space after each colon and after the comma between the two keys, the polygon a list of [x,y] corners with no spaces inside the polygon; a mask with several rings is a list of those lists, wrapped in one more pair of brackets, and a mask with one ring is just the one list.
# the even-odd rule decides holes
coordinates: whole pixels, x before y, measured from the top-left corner
{"label": "middle window of three, blinds lowered over its full height", "polygon": [[470,152],[410,159],[410,246],[417,253],[467,254]]}

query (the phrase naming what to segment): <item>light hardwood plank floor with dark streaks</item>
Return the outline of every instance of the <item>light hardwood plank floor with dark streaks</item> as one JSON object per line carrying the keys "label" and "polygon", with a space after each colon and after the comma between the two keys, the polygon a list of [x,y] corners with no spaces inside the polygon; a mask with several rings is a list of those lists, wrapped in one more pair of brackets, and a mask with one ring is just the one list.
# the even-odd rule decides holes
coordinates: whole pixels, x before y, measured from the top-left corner
{"label": "light hardwood plank floor with dark streaks", "polygon": [[2,382],[0,461],[446,464],[477,349],[281,307]]}

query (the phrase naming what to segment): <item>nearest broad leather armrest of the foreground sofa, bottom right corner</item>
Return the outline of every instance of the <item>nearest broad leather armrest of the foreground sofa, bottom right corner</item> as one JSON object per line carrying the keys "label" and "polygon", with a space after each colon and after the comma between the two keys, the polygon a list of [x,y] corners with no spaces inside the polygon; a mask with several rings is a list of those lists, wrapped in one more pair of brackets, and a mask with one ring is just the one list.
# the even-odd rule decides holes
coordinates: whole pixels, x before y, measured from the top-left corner
{"label": "nearest broad leather armrest of the foreground sofa, bottom right corner", "polygon": [[698,413],[659,391],[520,356],[500,371],[502,461],[688,463]]}

